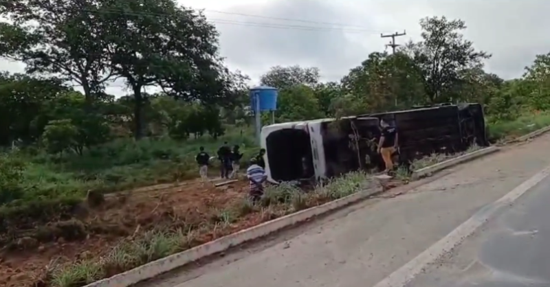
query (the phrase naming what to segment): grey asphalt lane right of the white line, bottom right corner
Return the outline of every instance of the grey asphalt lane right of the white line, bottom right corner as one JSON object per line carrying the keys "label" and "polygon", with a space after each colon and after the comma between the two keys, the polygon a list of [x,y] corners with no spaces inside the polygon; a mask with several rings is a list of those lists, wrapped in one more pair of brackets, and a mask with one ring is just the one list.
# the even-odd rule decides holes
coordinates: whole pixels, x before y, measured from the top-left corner
{"label": "grey asphalt lane right of the white line, bottom right corner", "polygon": [[407,286],[550,286],[549,203],[547,178]]}

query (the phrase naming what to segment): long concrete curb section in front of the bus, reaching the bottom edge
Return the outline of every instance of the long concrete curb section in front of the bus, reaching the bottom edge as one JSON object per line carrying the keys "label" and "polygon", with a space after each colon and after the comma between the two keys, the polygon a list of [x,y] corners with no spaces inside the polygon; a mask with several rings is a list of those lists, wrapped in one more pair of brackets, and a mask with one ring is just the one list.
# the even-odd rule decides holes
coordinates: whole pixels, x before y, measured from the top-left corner
{"label": "long concrete curb section in front of the bus, reaching the bottom edge", "polygon": [[285,227],[295,225],[298,222],[303,222],[310,218],[325,214],[333,209],[350,205],[351,203],[368,198],[377,192],[378,191],[376,188],[370,188],[368,190],[351,194],[344,198],[333,200],[329,203],[325,203],[324,205],[311,207],[309,209],[298,211],[294,214],[289,214],[281,218],[264,222],[261,225],[256,225],[255,227],[250,227],[249,229],[245,229],[228,236],[223,236],[222,238],[196,246],[192,249],[149,262],[148,264],[133,268],[130,271],[88,284],[85,287],[128,287],[146,279],[161,275],[162,273],[172,271],[175,268],[184,266],[203,257],[220,253],[232,246],[243,244],[244,242],[255,240],[257,238],[262,238]]}

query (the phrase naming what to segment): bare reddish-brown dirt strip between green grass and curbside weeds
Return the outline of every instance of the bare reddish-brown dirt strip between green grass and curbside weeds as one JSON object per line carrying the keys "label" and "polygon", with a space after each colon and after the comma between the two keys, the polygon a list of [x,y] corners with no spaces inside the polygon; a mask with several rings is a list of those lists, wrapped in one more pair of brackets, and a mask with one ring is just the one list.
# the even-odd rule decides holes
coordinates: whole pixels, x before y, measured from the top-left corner
{"label": "bare reddish-brown dirt strip between green grass and curbside weeds", "polygon": [[[3,218],[0,286],[33,286],[52,264],[104,255],[123,238],[155,228],[197,227],[241,200],[247,184],[214,187],[195,180],[161,190],[113,194],[96,207],[89,200],[49,222]],[[249,220],[241,225],[260,219]]]}

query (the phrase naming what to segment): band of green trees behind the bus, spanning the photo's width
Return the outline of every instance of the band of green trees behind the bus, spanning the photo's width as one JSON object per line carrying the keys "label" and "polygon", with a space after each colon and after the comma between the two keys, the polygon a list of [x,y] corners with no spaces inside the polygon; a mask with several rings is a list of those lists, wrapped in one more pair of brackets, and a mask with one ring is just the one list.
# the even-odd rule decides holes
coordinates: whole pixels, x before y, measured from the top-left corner
{"label": "band of green trees behind the bus, spanning the photo's width", "polygon": [[[129,135],[180,141],[250,125],[250,78],[225,67],[201,11],[173,0],[14,0],[0,4],[0,16],[8,19],[0,56],[27,65],[24,74],[0,73],[1,146],[82,154]],[[316,67],[272,67],[259,80],[279,90],[276,122],[441,102],[479,102],[489,121],[550,108],[550,54],[503,80],[484,70],[491,55],[463,36],[464,21],[434,16],[419,25],[419,41],[395,54],[373,51],[339,81],[326,82]],[[127,95],[105,93],[117,79]]]}

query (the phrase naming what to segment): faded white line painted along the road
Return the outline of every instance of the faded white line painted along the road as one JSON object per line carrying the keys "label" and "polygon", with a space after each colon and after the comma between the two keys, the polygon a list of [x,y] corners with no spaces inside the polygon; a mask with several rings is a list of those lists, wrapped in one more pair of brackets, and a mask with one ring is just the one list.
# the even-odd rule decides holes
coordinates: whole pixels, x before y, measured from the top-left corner
{"label": "faded white line painted along the road", "polygon": [[459,227],[456,227],[451,233],[438,242],[434,243],[430,248],[420,253],[417,257],[410,260],[404,266],[391,273],[388,277],[382,279],[374,287],[404,287],[408,282],[421,273],[428,264],[434,262],[445,253],[452,251],[454,246],[460,244],[467,236],[470,236],[476,229],[487,222],[489,218],[494,216],[496,211],[505,205],[514,203],[520,196],[529,191],[532,187],[540,183],[543,179],[550,175],[550,166],[544,168],[531,179],[524,181],[518,187],[505,194],[505,196],[496,200],[494,203],[487,205],[479,210],[470,219],[463,222]]}

